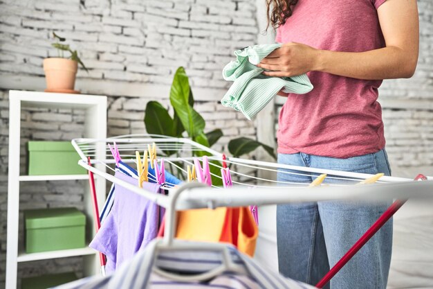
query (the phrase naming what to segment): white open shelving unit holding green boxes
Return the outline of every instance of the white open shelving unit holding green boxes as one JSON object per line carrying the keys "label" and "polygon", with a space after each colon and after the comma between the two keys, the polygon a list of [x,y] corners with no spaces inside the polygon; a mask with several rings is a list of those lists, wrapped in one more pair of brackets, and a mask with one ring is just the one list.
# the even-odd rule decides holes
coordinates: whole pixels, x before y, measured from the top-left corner
{"label": "white open shelving unit holding green boxes", "polygon": [[[82,109],[85,111],[84,137],[105,139],[107,137],[107,97],[80,94],[54,94],[35,91],[9,92],[9,176],[8,176],[8,244],[6,252],[6,288],[17,288],[17,265],[20,262],[84,256],[84,274],[90,276],[100,272],[98,252],[84,247],[51,252],[26,254],[18,252],[19,235],[19,184],[20,182],[63,181],[88,179],[88,175],[20,175],[21,108],[45,107]],[[105,146],[96,149],[96,158],[105,159]],[[101,170],[105,167],[96,165]],[[98,204],[105,200],[105,179],[95,175]],[[94,236],[93,213],[89,186],[84,189],[84,213],[87,217],[86,237]],[[102,209],[102,208],[100,208]]]}

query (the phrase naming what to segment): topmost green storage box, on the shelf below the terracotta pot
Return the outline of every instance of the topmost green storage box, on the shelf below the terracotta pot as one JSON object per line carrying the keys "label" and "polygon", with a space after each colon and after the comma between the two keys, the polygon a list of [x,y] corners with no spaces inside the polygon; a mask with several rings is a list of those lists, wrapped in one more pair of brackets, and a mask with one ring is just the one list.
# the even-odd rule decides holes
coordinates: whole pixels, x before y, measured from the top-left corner
{"label": "topmost green storage box, on the shelf below the terracotta pot", "polygon": [[28,175],[80,175],[80,155],[70,141],[28,141]]}

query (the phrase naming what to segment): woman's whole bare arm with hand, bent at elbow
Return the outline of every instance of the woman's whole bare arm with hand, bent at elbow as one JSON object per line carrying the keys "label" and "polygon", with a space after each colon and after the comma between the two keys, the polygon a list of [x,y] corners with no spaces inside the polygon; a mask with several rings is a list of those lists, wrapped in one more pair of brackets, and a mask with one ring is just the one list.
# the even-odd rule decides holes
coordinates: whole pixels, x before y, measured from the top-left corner
{"label": "woman's whole bare arm with hand, bent at elbow", "polygon": [[258,65],[267,76],[296,76],[323,71],[365,80],[410,78],[418,61],[418,8],[416,0],[388,0],[378,8],[386,47],[349,53],[313,49],[287,43]]}

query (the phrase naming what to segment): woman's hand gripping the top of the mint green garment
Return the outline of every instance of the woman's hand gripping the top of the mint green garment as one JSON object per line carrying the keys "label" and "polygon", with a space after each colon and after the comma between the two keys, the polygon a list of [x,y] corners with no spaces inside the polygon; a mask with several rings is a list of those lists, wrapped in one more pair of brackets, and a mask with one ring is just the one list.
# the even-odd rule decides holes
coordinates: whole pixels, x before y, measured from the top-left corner
{"label": "woman's hand gripping the top of the mint green garment", "polygon": [[288,42],[261,60],[257,67],[270,70],[263,72],[266,76],[300,76],[315,70],[318,52],[311,46]]}

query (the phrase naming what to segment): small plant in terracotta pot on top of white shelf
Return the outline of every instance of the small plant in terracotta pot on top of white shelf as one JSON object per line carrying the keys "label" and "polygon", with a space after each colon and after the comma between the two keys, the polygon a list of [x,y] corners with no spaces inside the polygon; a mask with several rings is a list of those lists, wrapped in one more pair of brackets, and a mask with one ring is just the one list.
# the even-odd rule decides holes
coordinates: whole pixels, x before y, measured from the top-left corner
{"label": "small plant in terracotta pot on top of white shelf", "polygon": [[[46,78],[46,89],[47,92],[62,92],[66,94],[79,94],[80,91],[74,90],[75,87],[75,75],[77,73],[78,63],[81,67],[89,72],[84,63],[78,57],[76,50],[72,50],[68,44],[62,44],[60,42],[66,41],[64,37],[53,32],[53,37],[56,42],[51,46],[57,49],[57,58],[46,58],[44,59],[44,71]],[[68,57],[65,57],[64,51],[71,53]]]}

